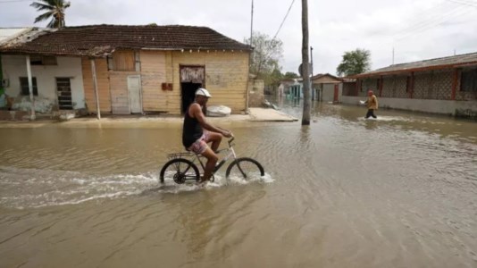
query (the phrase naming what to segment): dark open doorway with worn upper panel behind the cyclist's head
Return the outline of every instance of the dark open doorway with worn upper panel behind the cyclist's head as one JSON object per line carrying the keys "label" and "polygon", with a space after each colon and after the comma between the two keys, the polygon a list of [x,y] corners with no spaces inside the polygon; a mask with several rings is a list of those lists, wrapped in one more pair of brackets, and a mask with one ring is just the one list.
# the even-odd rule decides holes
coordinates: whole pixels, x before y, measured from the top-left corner
{"label": "dark open doorway with worn upper panel behind the cyclist's head", "polygon": [[204,66],[180,66],[180,112],[186,113],[188,105],[194,102],[197,88],[205,87]]}

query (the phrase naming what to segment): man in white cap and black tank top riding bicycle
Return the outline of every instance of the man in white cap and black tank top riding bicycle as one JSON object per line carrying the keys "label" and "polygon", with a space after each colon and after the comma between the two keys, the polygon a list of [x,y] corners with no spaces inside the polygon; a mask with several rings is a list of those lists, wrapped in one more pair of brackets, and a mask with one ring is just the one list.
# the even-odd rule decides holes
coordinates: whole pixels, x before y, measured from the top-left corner
{"label": "man in white cap and black tank top riding bicycle", "polygon": [[[197,155],[203,155],[207,158],[205,164],[204,177],[200,182],[205,182],[212,176],[213,168],[219,157],[215,154],[219,148],[222,136],[226,138],[232,137],[230,130],[222,130],[214,127],[205,121],[206,104],[212,97],[205,88],[198,88],[196,91],[196,99],[194,103],[188,106],[184,116],[184,126],[182,130],[182,145],[186,150],[192,151]],[[211,147],[207,143],[212,142]]]}

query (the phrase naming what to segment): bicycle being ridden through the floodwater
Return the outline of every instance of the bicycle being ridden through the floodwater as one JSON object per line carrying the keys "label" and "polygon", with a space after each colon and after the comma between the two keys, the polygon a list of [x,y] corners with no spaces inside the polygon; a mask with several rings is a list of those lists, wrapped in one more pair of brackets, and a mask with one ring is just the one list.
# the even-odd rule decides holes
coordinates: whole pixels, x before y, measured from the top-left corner
{"label": "bicycle being ridden through the floodwater", "polygon": [[[214,174],[218,172],[224,163],[233,157],[233,161],[227,167],[225,172],[225,177],[239,177],[241,179],[247,179],[251,176],[260,174],[264,176],[264,167],[261,163],[258,163],[253,158],[250,157],[237,157],[235,150],[233,149],[234,144],[232,143],[235,138],[230,138],[228,140],[229,147],[217,151],[217,153],[222,153],[228,151],[229,154],[222,158],[216,165],[212,172],[211,181],[215,180]],[[205,170],[205,164],[201,160],[203,156],[196,155],[191,152],[180,152],[167,155],[170,159],[167,163],[164,163],[163,168],[159,174],[160,182],[164,183],[165,180],[172,179],[178,184],[185,183],[187,180],[200,180],[200,173],[197,168],[196,161],[200,163],[202,171]],[[191,160],[190,160],[191,159]]]}

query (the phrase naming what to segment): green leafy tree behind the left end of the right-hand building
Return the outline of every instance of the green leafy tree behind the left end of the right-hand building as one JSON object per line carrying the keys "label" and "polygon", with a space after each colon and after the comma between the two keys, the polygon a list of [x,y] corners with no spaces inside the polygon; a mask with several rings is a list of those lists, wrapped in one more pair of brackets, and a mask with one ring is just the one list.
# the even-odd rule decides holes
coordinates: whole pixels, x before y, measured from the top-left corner
{"label": "green leafy tree behind the left end of the right-hand building", "polygon": [[349,76],[371,70],[371,53],[366,49],[347,51],[336,69],[338,76]]}

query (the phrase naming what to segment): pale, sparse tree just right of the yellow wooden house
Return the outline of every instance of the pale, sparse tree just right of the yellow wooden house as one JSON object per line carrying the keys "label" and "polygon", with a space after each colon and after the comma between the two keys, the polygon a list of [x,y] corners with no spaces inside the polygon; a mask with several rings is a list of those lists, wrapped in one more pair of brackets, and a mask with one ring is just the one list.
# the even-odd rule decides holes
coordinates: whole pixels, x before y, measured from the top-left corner
{"label": "pale, sparse tree just right of the yellow wooden house", "polygon": [[[250,45],[250,38],[244,40]],[[257,78],[267,80],[275,70],[280,71],[279,61],[283,55],[283,43],[280,39],[272,39],[266,34],[254,32],[251,46],[254,47],[250,72]]]}

